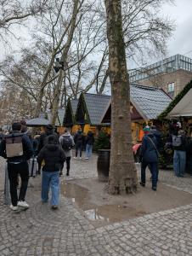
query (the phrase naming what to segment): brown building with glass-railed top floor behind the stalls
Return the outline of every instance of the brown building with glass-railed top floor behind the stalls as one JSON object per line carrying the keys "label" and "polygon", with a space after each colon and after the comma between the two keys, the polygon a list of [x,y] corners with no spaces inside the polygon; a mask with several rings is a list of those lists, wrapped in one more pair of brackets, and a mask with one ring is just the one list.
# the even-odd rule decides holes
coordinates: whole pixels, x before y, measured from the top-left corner
{"label": "brown building with glass-railed top floor behind the stalls", "polygon": [[192,79],[192,59],[173,55],[129,73],[130,83],[161,88],[174,98]]}

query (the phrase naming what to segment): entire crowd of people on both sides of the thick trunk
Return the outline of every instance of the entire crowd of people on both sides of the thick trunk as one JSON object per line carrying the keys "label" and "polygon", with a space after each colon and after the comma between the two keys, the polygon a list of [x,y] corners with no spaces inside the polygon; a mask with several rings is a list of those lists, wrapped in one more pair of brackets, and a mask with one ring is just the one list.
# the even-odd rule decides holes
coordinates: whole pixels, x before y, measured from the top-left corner
{"label": "entire crowd of people on both sides of the thick trunk", "polygon": [[[75,148],[74,159],[82,159],[85,149],[85,159],[88,160],[93,151],[94,136],[88,131],[84,136],[79,129],[74,136],[65,129],[62,135],[55,132],[53,125],[46,125],[45,131],[32,136],[27,131],[25,121],[21,120],[12,125],[11,131],[0,130],[0,156],[7,159],[7,170],[11,196],[10,208],[17,211],[18,207],[28,208],[25,201],[29,170],[29,160],[37,159],[36,174],[42,174],[42,202],[48,202],[49,188],[51,189],[51,207],[59,207],[59,176],[63,175],[66,163],[66,177],[70,176],[72,148]],[[168,146],[168,147],[167,147]],[[155,125],[144,127],[144,137],[140,147],[141,176],[140,185],[145,186],[146,168],[151,173],[151,188],[156,191],[159,174],[159,159],[165,147],[174,150],[173,170],[177,177],[184,177],[186,163],[192,176],[192,140],[186,136],[182,125],[178,122],[170,127],[167,141],[162,143],[161,131]],[[187,161],[188,160],[188,161]],[[33,165],[32,165],[33,167]],[[18,195],[18,181],[20,179],[20,193]]]}

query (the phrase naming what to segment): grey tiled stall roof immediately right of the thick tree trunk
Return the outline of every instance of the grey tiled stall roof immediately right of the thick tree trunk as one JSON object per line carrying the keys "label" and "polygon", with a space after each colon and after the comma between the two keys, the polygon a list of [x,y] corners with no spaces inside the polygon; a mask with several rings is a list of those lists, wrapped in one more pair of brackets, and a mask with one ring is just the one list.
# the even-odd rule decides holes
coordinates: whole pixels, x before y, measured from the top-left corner
{"label": "grey tiled stall roof immediately right of the thick tree trunk", "polygon": [[145,120],[157,117],[172,102],[172,98],[159,88],[130,84],[130,101]]}

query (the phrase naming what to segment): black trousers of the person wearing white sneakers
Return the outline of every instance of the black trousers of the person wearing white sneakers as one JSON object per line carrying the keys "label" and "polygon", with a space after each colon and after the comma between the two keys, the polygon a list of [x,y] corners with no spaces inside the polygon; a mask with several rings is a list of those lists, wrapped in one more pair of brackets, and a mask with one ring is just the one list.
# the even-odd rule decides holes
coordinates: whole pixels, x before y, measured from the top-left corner
{"label": "black trousers of the person wearing white sneakers", "polygon": [[[20,185],[20,195],[18,199],[17,195],[17,185],[18,185],[18,175],[20,174],[21,185]],[[14,207],[17,206],[18,201],[25,201],[26,189],[29,180],[29,166],[27,162],[22,162],[20,164],[8,163],[8,179],[10,185],[10,195],[11,202]]]}

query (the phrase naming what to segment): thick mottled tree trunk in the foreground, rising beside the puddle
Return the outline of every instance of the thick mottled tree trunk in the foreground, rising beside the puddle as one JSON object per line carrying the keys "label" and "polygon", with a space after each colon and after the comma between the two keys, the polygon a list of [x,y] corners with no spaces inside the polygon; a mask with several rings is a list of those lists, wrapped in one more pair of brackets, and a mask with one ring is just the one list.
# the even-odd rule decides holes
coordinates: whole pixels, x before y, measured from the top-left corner
{"label": "thick mottled tree trunk in the foreground, rising beside the puddle", "polygon": [[111,152],[109,193],[133,193],[138,188],[133,160],[130,89],[122,34],[121,0],[105,0],[111,84]]}

